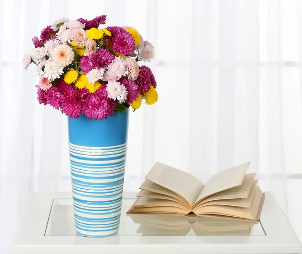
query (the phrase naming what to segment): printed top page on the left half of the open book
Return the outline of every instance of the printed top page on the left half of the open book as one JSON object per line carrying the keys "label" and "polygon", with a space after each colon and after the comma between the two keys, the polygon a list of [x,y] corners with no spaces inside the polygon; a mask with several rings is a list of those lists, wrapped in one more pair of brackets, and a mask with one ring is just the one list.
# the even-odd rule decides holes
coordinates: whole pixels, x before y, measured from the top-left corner
{"label": "printed top page on the left half of the open book", "polygon": [[203,188],[203,183],[195,176],[159,162],[154,165],[145,179],[179,194],[191,207]]}

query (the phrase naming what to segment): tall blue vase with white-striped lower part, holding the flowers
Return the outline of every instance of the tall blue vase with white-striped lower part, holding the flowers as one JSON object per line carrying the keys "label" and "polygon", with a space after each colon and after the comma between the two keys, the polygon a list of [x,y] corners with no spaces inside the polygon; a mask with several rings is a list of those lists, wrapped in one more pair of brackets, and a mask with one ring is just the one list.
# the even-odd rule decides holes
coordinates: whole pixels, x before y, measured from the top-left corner
{"label": "tall blue vase with white-striped lower part, holding the flowers", "polygon": [[77,233],[118,232],[126,163],[128,110],[103,120],[68,118],[74,220]]}

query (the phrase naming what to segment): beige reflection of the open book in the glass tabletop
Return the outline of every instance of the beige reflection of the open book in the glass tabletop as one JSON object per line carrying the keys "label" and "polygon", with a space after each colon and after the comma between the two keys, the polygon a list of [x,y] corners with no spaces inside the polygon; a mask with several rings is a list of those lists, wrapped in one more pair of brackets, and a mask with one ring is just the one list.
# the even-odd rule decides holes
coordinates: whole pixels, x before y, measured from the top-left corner
{"label": "beige reflection of the open book in the glass tabletop", "polygon": [[[163,216],[128,214],[138,223],[137,233],[155,235],[250,235],[256,222],[201,216]],[[191,231],[190,231],[191,230]]]}

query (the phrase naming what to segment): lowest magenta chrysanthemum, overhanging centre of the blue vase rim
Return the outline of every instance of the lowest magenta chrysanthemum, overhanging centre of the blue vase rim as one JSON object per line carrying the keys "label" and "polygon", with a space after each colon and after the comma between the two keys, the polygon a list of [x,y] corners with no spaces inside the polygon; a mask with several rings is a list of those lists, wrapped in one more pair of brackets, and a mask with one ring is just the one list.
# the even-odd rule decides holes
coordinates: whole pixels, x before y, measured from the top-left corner
{"label": "lowest magenta chrysanthemum, overhanging centre of the blue vase rim", "polygon": [[107,91],[98,88],[95,93],[90,93],[85,99],[83,111],[88,119],[107,119],[113,115],[115,101],[107,97]]}

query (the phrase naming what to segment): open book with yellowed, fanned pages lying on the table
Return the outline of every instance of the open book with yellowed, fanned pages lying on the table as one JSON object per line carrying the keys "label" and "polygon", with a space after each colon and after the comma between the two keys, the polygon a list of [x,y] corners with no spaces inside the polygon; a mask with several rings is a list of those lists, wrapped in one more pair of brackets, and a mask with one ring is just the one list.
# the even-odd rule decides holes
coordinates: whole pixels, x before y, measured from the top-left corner
{"label": "open book with yellowed, fanned pages lying on the table", "polygon": [[186,172],[157,162],[127,213],[258,221],[264,194],[257,186],[255,174],[246,174],[249,165],[250,162],[221,171],[203,184]]}

